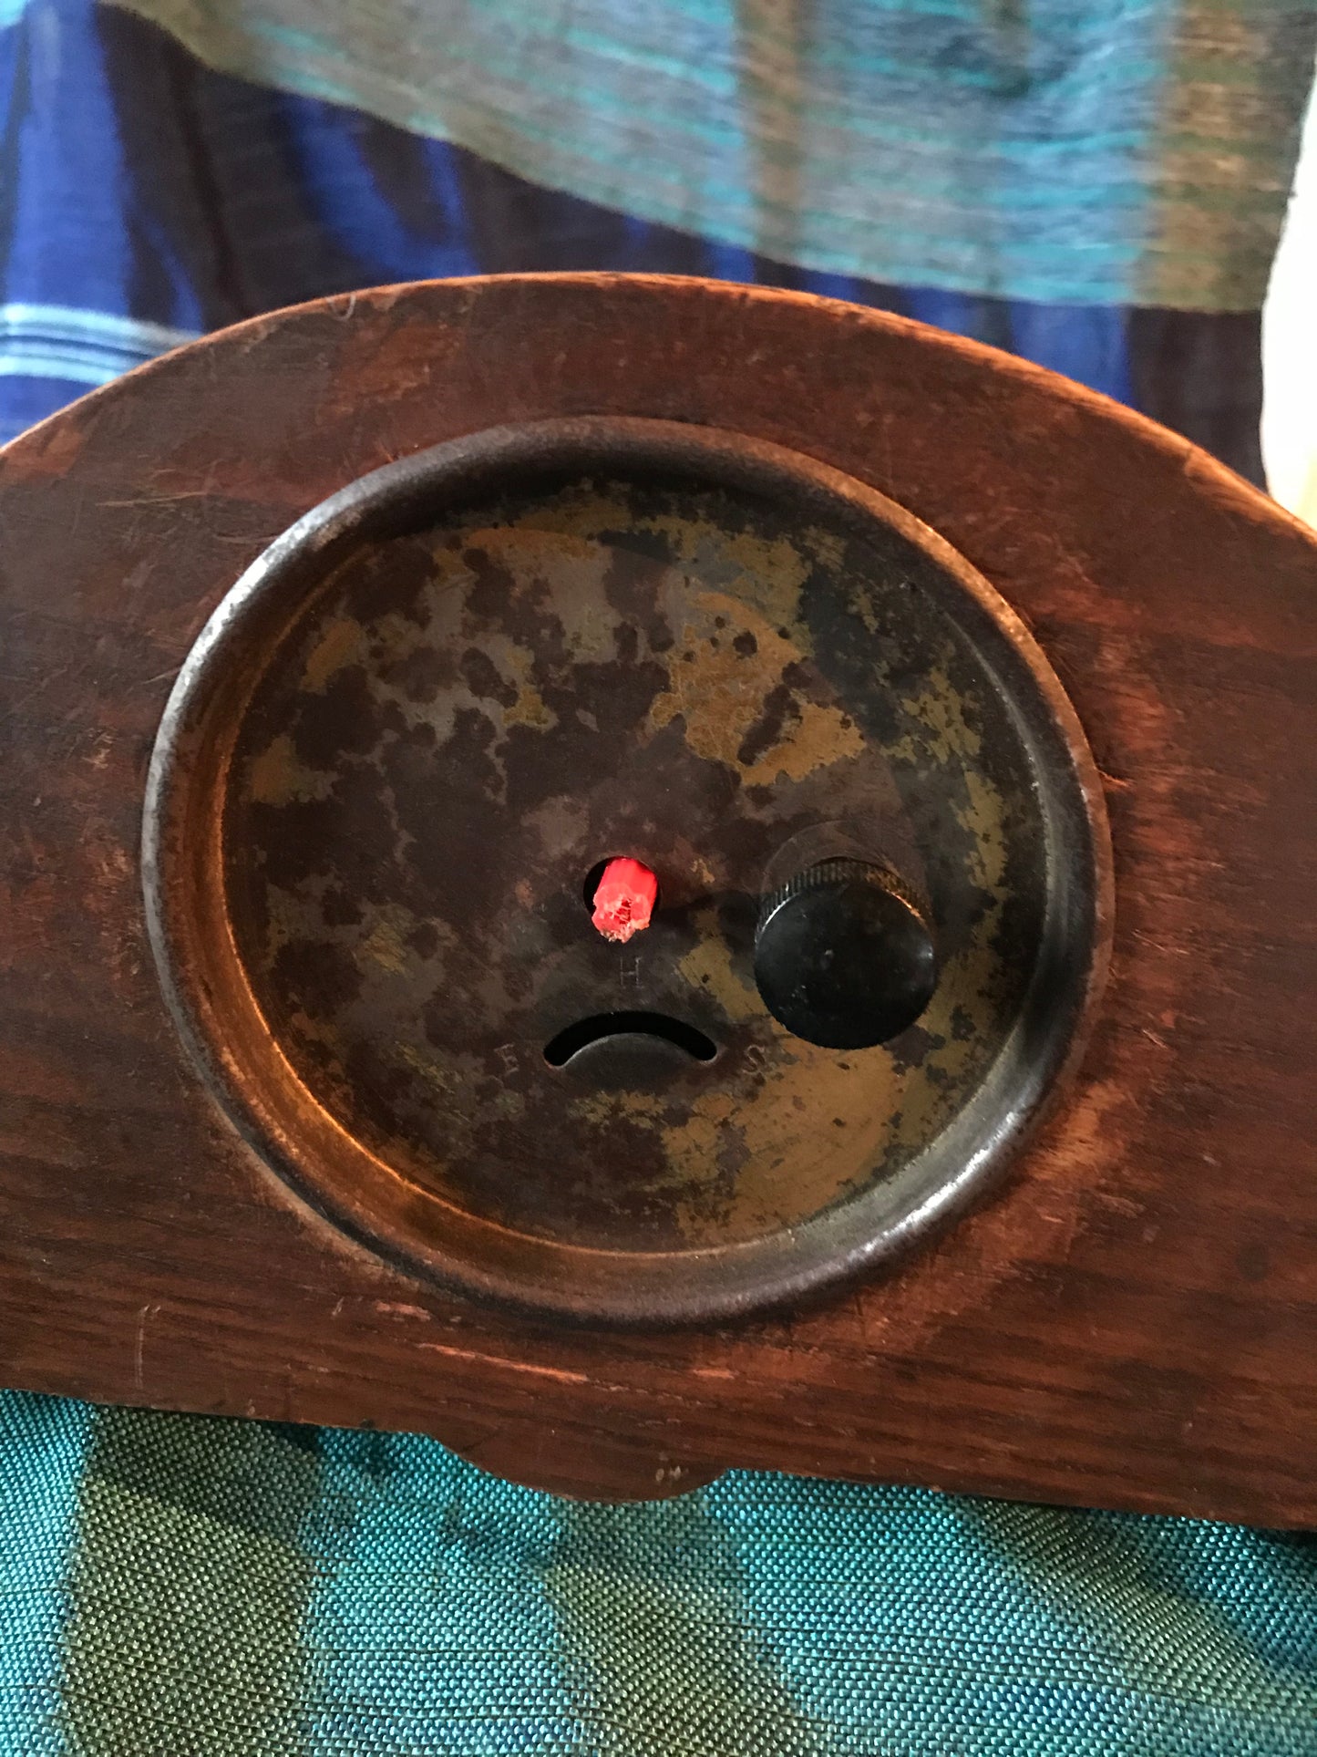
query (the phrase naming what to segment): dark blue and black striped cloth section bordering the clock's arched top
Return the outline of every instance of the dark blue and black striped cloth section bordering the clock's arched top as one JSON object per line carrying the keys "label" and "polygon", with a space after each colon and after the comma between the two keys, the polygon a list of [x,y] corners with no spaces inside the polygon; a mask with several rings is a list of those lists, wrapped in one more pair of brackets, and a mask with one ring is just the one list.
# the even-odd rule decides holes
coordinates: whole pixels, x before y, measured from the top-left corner
{"label": "dark blue and black striped cloth section bordering the clock's arched top", "polygon": [[[374,0],[376,25],[386,12]],[[1082,279],[1048,302],[1003,297],[996,274],[968,292],[799,267],[529,183],[362,109],[214,72],[93,0],[0,0],[0,439],[184,336],[321,293],[630,269],[899,311],[1078,378],[1263,480],[1261,290],[1245,309],[1168,309],[1094,302]]]}

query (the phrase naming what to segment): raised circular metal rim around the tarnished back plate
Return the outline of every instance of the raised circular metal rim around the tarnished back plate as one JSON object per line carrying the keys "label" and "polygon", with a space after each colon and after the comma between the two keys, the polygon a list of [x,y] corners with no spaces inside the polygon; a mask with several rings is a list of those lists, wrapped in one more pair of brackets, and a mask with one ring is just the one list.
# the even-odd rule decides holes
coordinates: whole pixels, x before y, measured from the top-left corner
{"label": "raised circular metal rim around the tarnished back plate", "polygon": [[[332,1117],[270,1033],[223,882],[223,801],[244,706],[306,596],[353,545],[464,501],[567,474],[662,471],[790,495],[813,517],[896,529],[938,564],[929,596],[1011,706],[1045,826],[1047,908],[1031,986],[973,1100],[894,1177],[801,1226],[692,1251],[606,1251],[516,1233],[407,1182]],[[146,921],[174,1024],[256,1154],[378,1253],[450,1288],[592,1323],[667,1325],[781,1305],[885,1263],[976,1200],[1038,1124],[1087,1042],[1112,940],[1101,782],[1047,657],[966,559],[894,501],[815,459],[711,427],[572,416],[492,427],[388,464],[299,518],[216,608],[165,706],[142,821]]]}

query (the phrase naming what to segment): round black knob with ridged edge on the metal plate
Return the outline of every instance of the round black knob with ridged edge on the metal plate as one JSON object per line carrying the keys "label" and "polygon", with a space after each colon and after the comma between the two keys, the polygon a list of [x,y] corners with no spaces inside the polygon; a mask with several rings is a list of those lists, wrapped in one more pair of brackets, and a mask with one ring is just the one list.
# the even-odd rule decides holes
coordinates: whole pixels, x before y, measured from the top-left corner
{"label": "round black knob with ridged edge on the metal plate", "polygon": [[829,859],[764,898],[755,982],[795,1037],[824,1049],[867,1049],[918,1019],[938,986],[938,958],[894,871]]}

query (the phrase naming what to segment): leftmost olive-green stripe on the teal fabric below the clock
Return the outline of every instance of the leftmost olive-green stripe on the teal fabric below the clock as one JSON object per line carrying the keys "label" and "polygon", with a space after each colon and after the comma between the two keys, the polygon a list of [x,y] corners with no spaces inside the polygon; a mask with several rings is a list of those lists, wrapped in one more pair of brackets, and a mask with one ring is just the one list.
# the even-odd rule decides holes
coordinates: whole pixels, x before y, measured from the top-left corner
{"label": "leftmost olive-green stripe on the teal fabric below the clock", "polygon": [[306,1748],[316,1490],[314,1451],[260,1423],[97,1416],[61,1641],[68,1750]]}

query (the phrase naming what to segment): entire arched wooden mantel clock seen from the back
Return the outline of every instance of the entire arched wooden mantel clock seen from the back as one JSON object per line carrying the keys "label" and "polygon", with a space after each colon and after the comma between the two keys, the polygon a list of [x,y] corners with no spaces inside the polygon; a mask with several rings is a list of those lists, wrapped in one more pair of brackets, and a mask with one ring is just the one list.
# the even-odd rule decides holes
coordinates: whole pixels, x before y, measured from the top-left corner
{"label": "entire arched wooden mantel clock seen from the back", "polygon": [[0,453],[0,1381],[1317,1520],[1317,539],[915,323],[358,293]]}

